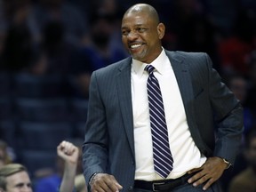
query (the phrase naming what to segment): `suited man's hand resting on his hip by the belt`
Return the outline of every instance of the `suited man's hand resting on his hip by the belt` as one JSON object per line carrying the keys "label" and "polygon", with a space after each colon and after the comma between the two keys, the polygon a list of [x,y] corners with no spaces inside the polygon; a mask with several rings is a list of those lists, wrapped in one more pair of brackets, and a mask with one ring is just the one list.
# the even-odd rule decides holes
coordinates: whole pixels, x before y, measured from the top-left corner
{"label": "suited man's hand resting on his hip by the belt", "polygon": [[210,157],[200,168],[188,172],[188,174],[197,172],[188,180],[188,183],[193,183],[195,187],[205,183],[203,189],[206,190],[213,182],[220,179],[226,168],[227,164],[224,163],[223,159],[217,156]]}

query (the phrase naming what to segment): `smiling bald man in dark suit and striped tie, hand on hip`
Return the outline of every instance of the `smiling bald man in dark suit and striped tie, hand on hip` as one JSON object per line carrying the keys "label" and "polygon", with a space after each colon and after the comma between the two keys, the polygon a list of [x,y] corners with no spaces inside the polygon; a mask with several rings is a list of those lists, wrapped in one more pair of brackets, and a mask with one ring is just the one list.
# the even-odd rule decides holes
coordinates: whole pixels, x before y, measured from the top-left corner
{"label": "smiling bald man in dark suit and striped tie, hand on hip", "polygon": [[164,50],[164,30],[152,6],[133,5],[122,20],[132,58],[92,73],[83,147],[92,192],[220,191],[216,181],[234,164],[240,103],[207,54]]}

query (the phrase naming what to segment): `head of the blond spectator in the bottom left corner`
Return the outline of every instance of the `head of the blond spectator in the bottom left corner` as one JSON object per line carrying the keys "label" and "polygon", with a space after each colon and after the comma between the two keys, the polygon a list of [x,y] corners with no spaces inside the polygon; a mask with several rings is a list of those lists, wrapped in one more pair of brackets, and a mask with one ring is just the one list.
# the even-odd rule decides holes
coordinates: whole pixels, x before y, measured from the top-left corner
{"label": "head of the blond spectator in the bottom left corner", "polygon": [[32,192],[31,180],[22,164],[6,164],[0,169],[0,192]]}

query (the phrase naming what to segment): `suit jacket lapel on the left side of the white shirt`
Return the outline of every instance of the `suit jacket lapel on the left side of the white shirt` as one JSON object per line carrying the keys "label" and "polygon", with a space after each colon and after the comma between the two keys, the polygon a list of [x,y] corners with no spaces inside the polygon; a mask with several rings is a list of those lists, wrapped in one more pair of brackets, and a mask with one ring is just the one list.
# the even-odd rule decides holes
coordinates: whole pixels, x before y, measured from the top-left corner
{"label": "suit jacket lapel on the left side of the white shirt", "polygon": [[116,82],[118,100],[124,121],[124,130],[127,135],[132,155],[134,156],[133,117],[132,117],[132,91],[131,91],[131,58],[124,60],[118,68]]}

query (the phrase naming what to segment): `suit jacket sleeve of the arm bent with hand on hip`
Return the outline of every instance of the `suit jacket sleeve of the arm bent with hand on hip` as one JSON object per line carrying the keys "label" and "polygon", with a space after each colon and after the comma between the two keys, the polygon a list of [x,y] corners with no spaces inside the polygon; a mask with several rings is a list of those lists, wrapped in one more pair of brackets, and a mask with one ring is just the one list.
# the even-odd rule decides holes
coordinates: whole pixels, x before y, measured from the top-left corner
{"label": "suit jacket sleeve of the arm bent with hand on hip", "polygon": [[209,70],[209,96],[215,122],[213,156],[220,156],[234,164],[243,132],[243,108],[235,95],[221,82],[212,60],[205,54]]}

